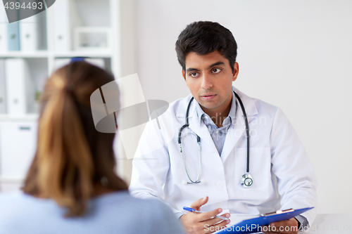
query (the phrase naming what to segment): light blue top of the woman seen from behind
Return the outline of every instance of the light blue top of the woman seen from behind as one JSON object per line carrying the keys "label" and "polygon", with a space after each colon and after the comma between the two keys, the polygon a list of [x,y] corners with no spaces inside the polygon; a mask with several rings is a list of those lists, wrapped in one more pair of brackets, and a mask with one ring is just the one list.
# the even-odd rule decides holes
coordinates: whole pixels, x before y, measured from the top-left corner
{"label": "light blue top of the woman seen from behind", "polygon": [[65,209],[54,200],[23,192],[0,195],[0,233],[183,233],[180,221],[165,204],[139,200],[127,191],[93,198],[83,217],[64,218],[64,214]]}

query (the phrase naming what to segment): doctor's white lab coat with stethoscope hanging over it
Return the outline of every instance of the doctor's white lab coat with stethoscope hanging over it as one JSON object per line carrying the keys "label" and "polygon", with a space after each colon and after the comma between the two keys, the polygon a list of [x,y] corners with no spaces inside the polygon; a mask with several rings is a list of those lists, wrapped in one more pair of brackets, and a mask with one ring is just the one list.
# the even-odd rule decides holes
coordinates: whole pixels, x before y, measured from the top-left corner
{"label": "doctor's white lab coat with stethoscope hanging over it", "polygon": [[[189,129],[182,131],[182,151],[192,180],[199,172],[196,135],[201,138],[201,183],[189,182],[177,143],[191,95],[171,103],[167,112],[146,124],[133,160],[130,193],[143,199],[156,198],[183,212],[201,197],[209,197],[203,211],[221,207],[237,215],[257,215],[277,209],[316,207],[317,181],[312,164],[291,123],[281,109],[250,98],[232,87],[241,98],[250,130],[250,174],[253,185],[242,188],[246,172],[246,131],[237,100],[236,122],[227,132],[221,155],[196,113],[196,100],[189,110]],[[221,156],[221,157],[220,157]],[[316,209],[302,214],[311,224]]]}

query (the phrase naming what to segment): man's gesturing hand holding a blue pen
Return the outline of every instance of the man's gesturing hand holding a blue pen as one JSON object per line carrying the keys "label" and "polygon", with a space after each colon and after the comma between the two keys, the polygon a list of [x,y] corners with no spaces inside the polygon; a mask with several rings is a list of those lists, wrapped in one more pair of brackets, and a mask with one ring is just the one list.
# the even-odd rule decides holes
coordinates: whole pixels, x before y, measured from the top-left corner
{"label": "man's gesturing hand holding a blue pen", "polygon": [[[201,198],[197,200],[196,202],[193,202],[191,204],[191,208],[199,211],[201,210],[201,206],[203,204],[206,204],[208,202],[208,197]],[[188,234],[193,234],[193,233],[214,233],[217,230],[220,230],[222,228],[225,228],[228,223],[230,223],[230,220],[222,220],[218,218],[212,218],[215,215],[218,215],[222,212],[222,209],[214,209],[211,212],[206,212],[206,213],[194,213],[194,212],[188,212],[187,214],[184,214],[181,216],[181,221],[184,226],[184,230]],[[226,218],[230,218],[230,214],[222,214],[221,216],[224,216]],[[220,222],[220,223],[219,223]]]}

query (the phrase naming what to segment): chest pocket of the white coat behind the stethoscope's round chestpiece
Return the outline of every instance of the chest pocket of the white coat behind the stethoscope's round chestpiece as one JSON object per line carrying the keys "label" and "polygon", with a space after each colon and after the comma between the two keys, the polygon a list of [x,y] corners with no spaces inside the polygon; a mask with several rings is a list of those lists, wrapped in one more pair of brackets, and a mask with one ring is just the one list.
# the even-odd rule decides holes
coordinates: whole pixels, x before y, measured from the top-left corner
{"label": "chest pocket of the white coat behind the stethoscope's round chestpiece", "polygon": [[254,191],[264,190],[271,181],[271,156],[270,148],[249,148],[249,174],[253,178],[253,184],[249,188],[243,188],[240,178],[246,173],[247,148],[234,148],[234,176],[238,195],[250,196]]}

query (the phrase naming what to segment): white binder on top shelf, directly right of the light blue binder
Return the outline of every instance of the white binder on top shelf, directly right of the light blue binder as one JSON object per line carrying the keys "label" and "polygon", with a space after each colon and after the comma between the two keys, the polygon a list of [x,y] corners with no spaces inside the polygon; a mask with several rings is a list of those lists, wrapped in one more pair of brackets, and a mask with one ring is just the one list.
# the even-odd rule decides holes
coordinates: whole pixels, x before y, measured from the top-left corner
{"label": "white binder on top shelf, directly right of the light blue binder", "polygon": [[39,47],[39,15],[20,20],[21,51],[37,51]]}

